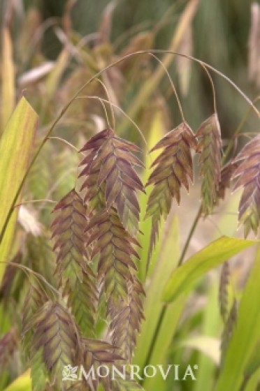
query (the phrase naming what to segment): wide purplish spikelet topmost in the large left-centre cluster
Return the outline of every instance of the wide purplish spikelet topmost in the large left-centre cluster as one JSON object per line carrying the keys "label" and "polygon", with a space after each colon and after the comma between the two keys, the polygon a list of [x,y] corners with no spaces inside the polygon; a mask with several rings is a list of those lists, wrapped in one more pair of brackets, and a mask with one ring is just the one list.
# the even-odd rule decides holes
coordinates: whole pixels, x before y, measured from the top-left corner
{"label": "wide purplish spikelet topmost in the large left-centre cluster", "polygon": [[144,191],[143,184],[134,170],[143,163],[133,152],[141,152],[136,145],[122,140],[108,128],[94,135],[81,149],[88,152],[80,165],[85,165],[80,177],[86,177],[82,188],[85,200],[96,210],[115,207],[124,228],[131,235],[138,230],[140,207],[136,191]]}

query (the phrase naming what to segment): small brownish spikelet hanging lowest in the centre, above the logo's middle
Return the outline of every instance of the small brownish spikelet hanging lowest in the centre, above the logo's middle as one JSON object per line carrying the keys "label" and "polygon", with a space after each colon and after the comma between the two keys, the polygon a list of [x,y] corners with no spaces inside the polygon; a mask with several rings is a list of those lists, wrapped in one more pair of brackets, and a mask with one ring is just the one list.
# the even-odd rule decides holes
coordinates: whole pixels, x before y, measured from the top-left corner
{"label": "small brownish spikelet hanging lowest in the centre, above the logo's middle", "polygon": [[131,362],[133,348],[136,346],[136,336],[140,331],[140,323],[143,320],[143,303],[141,295],[145,295],[143,287],[134,279],[129,281],[128,298],[121,300],[115,305],[113,300],[110,300],[108,312],[110,318],[110,335],[112,344],[120,348],[120,354],[127,362]]}

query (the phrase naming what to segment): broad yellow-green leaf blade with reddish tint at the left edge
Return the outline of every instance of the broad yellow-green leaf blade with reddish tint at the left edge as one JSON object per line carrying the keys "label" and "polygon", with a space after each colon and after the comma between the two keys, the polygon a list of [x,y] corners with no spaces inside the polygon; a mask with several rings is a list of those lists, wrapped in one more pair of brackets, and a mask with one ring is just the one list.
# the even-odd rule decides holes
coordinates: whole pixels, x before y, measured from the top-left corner
{"label": "broad yellow-green leaf blade with reddish tint at the left edge", "polygon": [[[10,117],[0,141],[0,232],[26,173],[38,115],[22,97]],[[17,208],[14,209],[0,245],[0,260],[6,260],[13,240]],[[4,267],[0,265],[0,280]]]}

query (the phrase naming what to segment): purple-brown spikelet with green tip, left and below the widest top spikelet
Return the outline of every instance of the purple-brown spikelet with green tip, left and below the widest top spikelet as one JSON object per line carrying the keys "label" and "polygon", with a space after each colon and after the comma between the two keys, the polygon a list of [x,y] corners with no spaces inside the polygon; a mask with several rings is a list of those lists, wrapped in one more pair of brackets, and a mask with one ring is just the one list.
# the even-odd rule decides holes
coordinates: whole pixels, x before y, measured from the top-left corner
{"label": "purple-brown spikelet with green tip, left and below the widest top spikelet", "polygon": [[75,284],[83,281],[83,272],[94,277],[87,265],[87,252],[84,242],[84,231],[87,226],[86,208],[80,195],[73,189],[60,200],[54,212],[52,238],[55,238],[54,250],[57,250],[56,273],[59,285],[67,283],[73,289]]}

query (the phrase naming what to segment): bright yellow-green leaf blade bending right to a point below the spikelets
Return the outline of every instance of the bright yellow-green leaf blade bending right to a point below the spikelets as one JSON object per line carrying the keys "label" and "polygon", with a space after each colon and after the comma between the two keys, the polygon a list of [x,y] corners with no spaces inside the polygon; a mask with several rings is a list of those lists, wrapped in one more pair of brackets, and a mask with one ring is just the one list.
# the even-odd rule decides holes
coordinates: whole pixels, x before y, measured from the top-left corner
{"label": "bright yellow-green leaf blade bending right to a point below the spikelets", "polygon": [[163,299],[166,302],[173,302],[181,293],[198,277],[214,269],[225,260],[235,256],[240,251],[247,247],[256,244],[253,240],[238,239],[235,237],[222,236],[214,242],[210,243],[201,251],[198,251],[194,256],[189,258],[184,265],[174,270],[166,288],[164,290]]}

